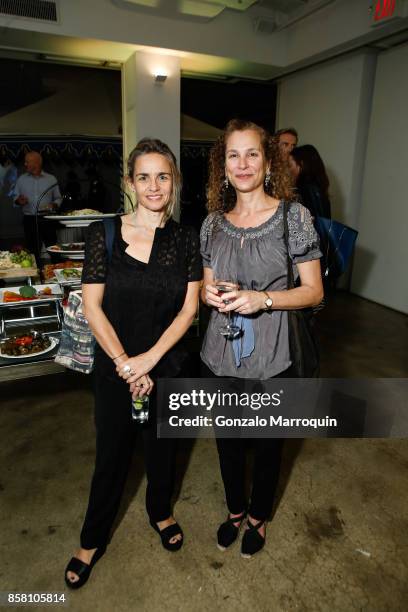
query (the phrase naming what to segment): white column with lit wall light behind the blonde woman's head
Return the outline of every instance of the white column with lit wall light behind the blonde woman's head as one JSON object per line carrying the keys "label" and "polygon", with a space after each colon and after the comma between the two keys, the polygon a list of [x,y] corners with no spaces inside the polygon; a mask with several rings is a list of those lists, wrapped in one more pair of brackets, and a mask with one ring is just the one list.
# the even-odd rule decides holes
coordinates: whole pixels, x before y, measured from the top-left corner
{"label": "white column with lit wall light behind the blonde woman's head", "polygon": [[[158,83],[156,74],[167,78]],[[144,137],[159,138],[180,159],[179,58],[141,51],[131,55],[122,68],[122,119],[124,174],[130,151]]]}

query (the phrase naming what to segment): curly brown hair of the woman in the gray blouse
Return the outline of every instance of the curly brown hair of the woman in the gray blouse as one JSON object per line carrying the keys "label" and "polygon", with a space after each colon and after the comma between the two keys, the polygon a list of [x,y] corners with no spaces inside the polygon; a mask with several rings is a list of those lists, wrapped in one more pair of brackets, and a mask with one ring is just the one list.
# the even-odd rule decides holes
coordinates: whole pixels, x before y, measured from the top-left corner
{"label": "curly brown hair of the woman in the gray blouse", "polygon": [[233,132],[244,130],[253,130],[261,137],[265,160],[271,169],[271,180],[267,186],[264,186],[265,193],[279,200],[293,200],[293,179],[287,161],[281,156],[278,139],[252,121],[231,119],[210,152],[207,187],[209,212],[228,212],[235,206],[237,195],[234,187],[232,185],[225,187],[225,147]]}

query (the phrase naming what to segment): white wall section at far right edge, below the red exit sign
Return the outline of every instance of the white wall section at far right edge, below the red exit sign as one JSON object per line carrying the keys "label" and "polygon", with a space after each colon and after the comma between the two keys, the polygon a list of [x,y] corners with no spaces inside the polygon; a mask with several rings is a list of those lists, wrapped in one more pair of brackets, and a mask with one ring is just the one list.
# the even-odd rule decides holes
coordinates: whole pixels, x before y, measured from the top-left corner
{"label": "white wall section at far right edge, below the red exit sign", "polygon": [[352,290],[408,313],[408,45],[378,58]]}

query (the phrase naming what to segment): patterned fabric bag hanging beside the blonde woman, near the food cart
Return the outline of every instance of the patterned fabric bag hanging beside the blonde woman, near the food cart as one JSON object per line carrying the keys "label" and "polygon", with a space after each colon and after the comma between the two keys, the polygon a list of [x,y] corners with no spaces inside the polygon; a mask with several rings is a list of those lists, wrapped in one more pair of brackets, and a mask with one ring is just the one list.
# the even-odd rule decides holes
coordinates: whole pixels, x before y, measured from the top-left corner
{"label": "patterned fabric bag hanging beside the blonde woman, near the food cart", "polygon": [[70,370],[89,374],[93,368],[94,352],[95,338],[82,313],[82,291],[71,291],[55,361]]}

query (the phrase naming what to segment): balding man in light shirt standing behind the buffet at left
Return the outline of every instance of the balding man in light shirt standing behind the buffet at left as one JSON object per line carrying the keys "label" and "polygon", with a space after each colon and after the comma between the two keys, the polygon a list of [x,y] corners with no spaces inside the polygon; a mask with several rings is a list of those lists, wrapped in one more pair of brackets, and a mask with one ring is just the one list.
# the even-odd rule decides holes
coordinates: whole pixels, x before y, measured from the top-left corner
{"label": "balding man in light shirt standing behind the buffet at left", "polygon": [[[55,222],[44,219],[43,215],[59,208],[62,201],[57,179],[52,174],[44,172],[42,165],[40,153],[37,151],[27,153],[24,161],[26,172],[17,179],[14,189],[14,203],[23,212],[26,247],[30,253],[34,253],[38,264],[40,264],[42,243],[51,246],[56,242]],[[44,196],[41,198],[42,194]]]}

